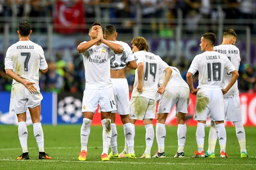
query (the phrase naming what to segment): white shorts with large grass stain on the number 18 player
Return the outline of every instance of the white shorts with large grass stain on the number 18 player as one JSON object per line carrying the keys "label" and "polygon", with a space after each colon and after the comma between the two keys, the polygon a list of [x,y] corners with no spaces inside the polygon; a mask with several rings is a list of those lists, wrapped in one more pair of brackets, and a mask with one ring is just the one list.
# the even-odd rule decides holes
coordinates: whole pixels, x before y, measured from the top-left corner
{"label": "white shorts with large grass stain on the number 18 player", "polygon": [[202,90],[196,95],[194,120],[207,120],[211,113],[214,121],[224,120],[224,98],[221,90]]}

